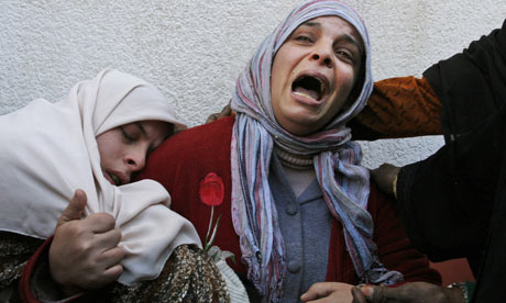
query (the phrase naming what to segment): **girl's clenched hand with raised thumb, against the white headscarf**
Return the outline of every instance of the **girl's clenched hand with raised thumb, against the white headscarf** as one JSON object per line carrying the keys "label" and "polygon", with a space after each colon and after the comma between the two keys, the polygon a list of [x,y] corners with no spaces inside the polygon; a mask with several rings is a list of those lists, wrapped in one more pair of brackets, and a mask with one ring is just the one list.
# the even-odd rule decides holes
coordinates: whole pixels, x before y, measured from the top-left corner
{"label": "girl's clenched hand with raised thumb, against the white headscarf", "polygon": [[50,247],[50,270],[66,295],[98,289],[116,281],[123,272],[119,263],[125,251],[118,247],[121,232],[106,213],[81,220],[86,193],[76,190],[58,218]]}

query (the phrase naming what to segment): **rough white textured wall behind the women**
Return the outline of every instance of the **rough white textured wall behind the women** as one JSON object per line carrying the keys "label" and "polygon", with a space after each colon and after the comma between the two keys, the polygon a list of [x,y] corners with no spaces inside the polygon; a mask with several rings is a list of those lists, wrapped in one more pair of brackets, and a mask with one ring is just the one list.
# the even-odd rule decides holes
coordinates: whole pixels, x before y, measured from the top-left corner
{"label": "rough white textured wall behind the women", "polygon": [[[230,99],[263,37],[298,0],[0,0],[0,114],[58,101],[105,67],[158,86],[189,125]],[[421,72],[499,27],[504,0],[348,1],[364,18],[376,80]],[[430,155],[440,137],[364,144],[365,165]]]}

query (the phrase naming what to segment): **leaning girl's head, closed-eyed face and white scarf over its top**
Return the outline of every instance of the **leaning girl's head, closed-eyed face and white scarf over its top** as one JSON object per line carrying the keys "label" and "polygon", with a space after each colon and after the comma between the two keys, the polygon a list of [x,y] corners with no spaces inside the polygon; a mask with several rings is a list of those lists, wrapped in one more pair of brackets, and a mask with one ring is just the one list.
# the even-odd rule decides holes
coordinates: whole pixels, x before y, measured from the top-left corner
{"label": "leaning girl's head, closed-eyed face and white scarf over its top", "polygon": [[107,70],[97,81],[91,124],[100,169],[111,184],[127,184],[148,155],[185,126],[162,92],[144,80]]}

